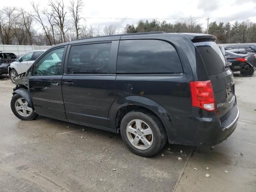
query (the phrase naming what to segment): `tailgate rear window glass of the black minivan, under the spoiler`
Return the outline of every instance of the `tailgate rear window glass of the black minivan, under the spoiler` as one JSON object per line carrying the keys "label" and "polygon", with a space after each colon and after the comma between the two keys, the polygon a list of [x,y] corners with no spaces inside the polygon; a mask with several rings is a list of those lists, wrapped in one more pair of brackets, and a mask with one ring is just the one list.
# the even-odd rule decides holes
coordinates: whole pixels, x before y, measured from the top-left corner
{"label": "tailgate rear window glass of the black minivan, under the spoiler", "polygon": [[194,44],[198,48],[210,76],[228,70],[228,68],[225,68],[225,58],[215,42],[198,42]]}

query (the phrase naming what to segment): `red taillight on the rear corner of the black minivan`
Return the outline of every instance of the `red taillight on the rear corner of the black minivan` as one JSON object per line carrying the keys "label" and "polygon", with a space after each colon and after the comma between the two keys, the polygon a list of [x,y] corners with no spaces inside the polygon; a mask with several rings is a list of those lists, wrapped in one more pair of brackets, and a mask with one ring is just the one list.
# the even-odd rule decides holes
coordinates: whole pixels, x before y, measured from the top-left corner
{"label": "red taillight on the rear corner of the black minivan", "polygon": [[190,81],[189,84],[192,106],[206,111],[215,111],[215,99],[212,82],[210,80]]}

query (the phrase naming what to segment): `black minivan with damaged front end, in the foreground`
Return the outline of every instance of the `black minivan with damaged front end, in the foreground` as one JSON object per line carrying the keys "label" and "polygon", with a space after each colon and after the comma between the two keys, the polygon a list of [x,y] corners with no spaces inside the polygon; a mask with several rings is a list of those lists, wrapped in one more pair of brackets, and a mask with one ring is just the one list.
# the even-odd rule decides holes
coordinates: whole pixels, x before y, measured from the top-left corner
{"label": "black minivan with damaged front end, in the foreground", "polygon": [[218,144],[235,130],[239,110],[215,41],[150,32],[53,46],[16,78],[12,111],[22,120],[42,115],[121,133],[140,156],[157,154],[166,141]]}

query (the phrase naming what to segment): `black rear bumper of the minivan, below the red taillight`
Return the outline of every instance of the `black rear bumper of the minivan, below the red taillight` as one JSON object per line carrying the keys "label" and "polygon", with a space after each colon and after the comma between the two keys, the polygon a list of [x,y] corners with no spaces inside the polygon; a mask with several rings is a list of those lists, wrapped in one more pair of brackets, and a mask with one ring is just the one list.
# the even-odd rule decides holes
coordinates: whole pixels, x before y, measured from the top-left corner
{"label": "black rear bumper of the minivan, below the red taillight", "polygon": [[236,105],[230,111],[229,116],[220,122],[215,112],[202,112],[200,109],[193,109],[193,114],[201,116],[165,116],[162,121],[168,135],[168,142],[171,144],[185,144],[192,146],[213,146],[226,138],[236,129],[239,110]]}

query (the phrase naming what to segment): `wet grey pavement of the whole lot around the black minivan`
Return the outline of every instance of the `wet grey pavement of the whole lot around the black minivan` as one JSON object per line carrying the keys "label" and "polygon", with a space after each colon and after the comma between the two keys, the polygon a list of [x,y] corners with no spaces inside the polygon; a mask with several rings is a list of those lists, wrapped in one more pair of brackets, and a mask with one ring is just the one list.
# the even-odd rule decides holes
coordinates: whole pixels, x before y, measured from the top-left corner
{"label": "wet grey pavement of the whole lot around the black minivan", "polygon": [[14,84],[0,76],[0,191],[255,192],[256,76],[235,84],[240,120],[227,140],[214,149],[166,144],[143,158],[118,134],[42,116],[19,120],[10,109]]}

